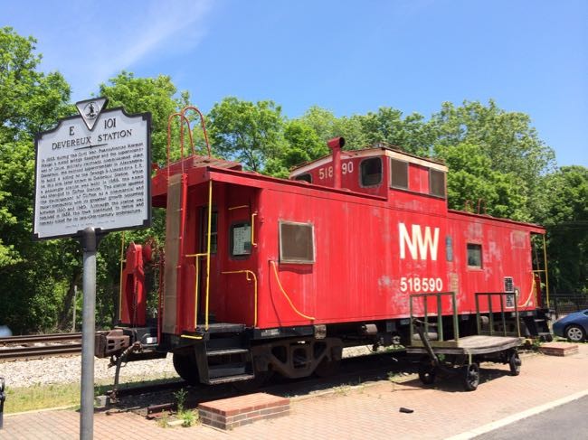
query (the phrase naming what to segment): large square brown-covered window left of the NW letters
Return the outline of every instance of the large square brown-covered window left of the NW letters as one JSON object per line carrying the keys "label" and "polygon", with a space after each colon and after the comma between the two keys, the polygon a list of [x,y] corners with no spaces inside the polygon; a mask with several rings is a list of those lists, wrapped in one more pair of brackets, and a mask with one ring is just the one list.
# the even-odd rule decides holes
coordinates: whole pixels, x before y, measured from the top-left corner
{"label": "large square brown-covered window left of the NW letters", "polygon": [[310,223],[280,221],[280,262],[314,263],[314,235]]}

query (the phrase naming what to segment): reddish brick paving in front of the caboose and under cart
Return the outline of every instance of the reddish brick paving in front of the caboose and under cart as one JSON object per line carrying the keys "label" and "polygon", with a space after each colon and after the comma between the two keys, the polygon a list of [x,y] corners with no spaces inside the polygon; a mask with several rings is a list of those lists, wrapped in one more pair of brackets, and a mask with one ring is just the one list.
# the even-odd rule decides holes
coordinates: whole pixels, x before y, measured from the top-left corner
{"label": "reddish brick paving in front of the caboose and under cart", "polygon": [[[289,417],[263,420],[232,431],[207,426],[162,428],[134,414],[96,414],[96,439],[390,439],[446,438],[531,407],[588,390],[588,345],[568,357],[536,355],[523,359],[521,374],[493,364],[482,370],[478,390],[464,392],[457,379],[441,379],[434,388],[418,380],[393,384],[382,380],[323,396],[292,399]],[[488,372],[490,374],[488,374]],[[491,379],[484,381],[484,378]],[[412,414],[399,412],[409,407]],[[79,414],[45,411],[5,416],[0,438],[78,438]]]}

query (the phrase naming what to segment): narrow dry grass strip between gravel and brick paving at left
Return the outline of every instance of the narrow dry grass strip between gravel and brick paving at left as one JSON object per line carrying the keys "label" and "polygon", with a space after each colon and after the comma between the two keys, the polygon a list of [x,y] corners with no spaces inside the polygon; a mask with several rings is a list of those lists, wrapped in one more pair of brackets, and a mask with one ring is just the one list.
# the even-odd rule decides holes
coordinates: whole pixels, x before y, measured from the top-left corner
{"label": "narrow dry grass strip between gravel and brick paving at left", "polygon": [[[147,379],[137,382],[121,384],[119,389],[155,385],[175,381],[177,379]],[[94,387],[94,395],[100,396],[112,389],[112,382],[99,384]],[[80,405],[80,384],[35,384],[32,387],[10,388],[6,387],[5,414],[32,411],[51,407],[76,407]]]}

